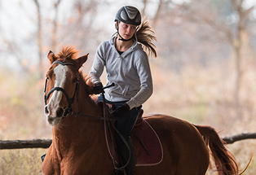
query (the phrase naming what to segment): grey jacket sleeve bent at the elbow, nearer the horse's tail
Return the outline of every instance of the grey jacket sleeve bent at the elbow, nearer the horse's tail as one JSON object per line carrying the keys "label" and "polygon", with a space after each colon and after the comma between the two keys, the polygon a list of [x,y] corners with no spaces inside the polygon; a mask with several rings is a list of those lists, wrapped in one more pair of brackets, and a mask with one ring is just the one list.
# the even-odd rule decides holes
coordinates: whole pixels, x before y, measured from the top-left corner
{"label": "grey jacket sleeve bent at the elbow, nearer the horse's tail", "polygon": [[143,52],[139,55],[138,60],[135,62],[135,66],[137,68],[137,72],[139,75],[140,81],[140,90],[134,97],[130,98],[127,102],[130,109],[133,107],[139,107],[143,103],[145,103],[148,98],[152,95],[152,75],[150,66],[148,63],[148,55]]}

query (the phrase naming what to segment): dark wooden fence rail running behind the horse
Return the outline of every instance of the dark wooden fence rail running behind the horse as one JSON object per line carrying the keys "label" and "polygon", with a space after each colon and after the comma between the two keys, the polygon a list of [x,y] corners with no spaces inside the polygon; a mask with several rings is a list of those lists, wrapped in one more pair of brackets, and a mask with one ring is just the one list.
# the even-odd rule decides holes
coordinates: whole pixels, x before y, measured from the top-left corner
{"label": "dark wooden fence rail running behind the horse", "polygon": [[[233,142],[255,139],[256,133],[241,133],[231,137],[222,138],[227,144]],[[51,145],[51,139],[34,139],[34,140],[0,140],[0,150],[6,149],[23,149],[23,148],[48,148]]]}

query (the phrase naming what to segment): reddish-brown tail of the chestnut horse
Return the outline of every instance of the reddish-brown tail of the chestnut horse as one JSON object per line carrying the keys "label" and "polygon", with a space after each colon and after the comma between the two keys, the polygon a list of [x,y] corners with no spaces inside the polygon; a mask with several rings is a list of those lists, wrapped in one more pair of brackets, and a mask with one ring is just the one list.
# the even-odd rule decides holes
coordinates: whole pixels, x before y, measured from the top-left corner
{"label": "reddish-brown tail of the chestnut horse", "polygon": [[210,126],[195,125],[195,127],[205,138],[205,143],[210,148],[218,175],[239,174],[239,167],[235,157],[230,151],[227,151],[224,141],[219,138],[218,133]]}

